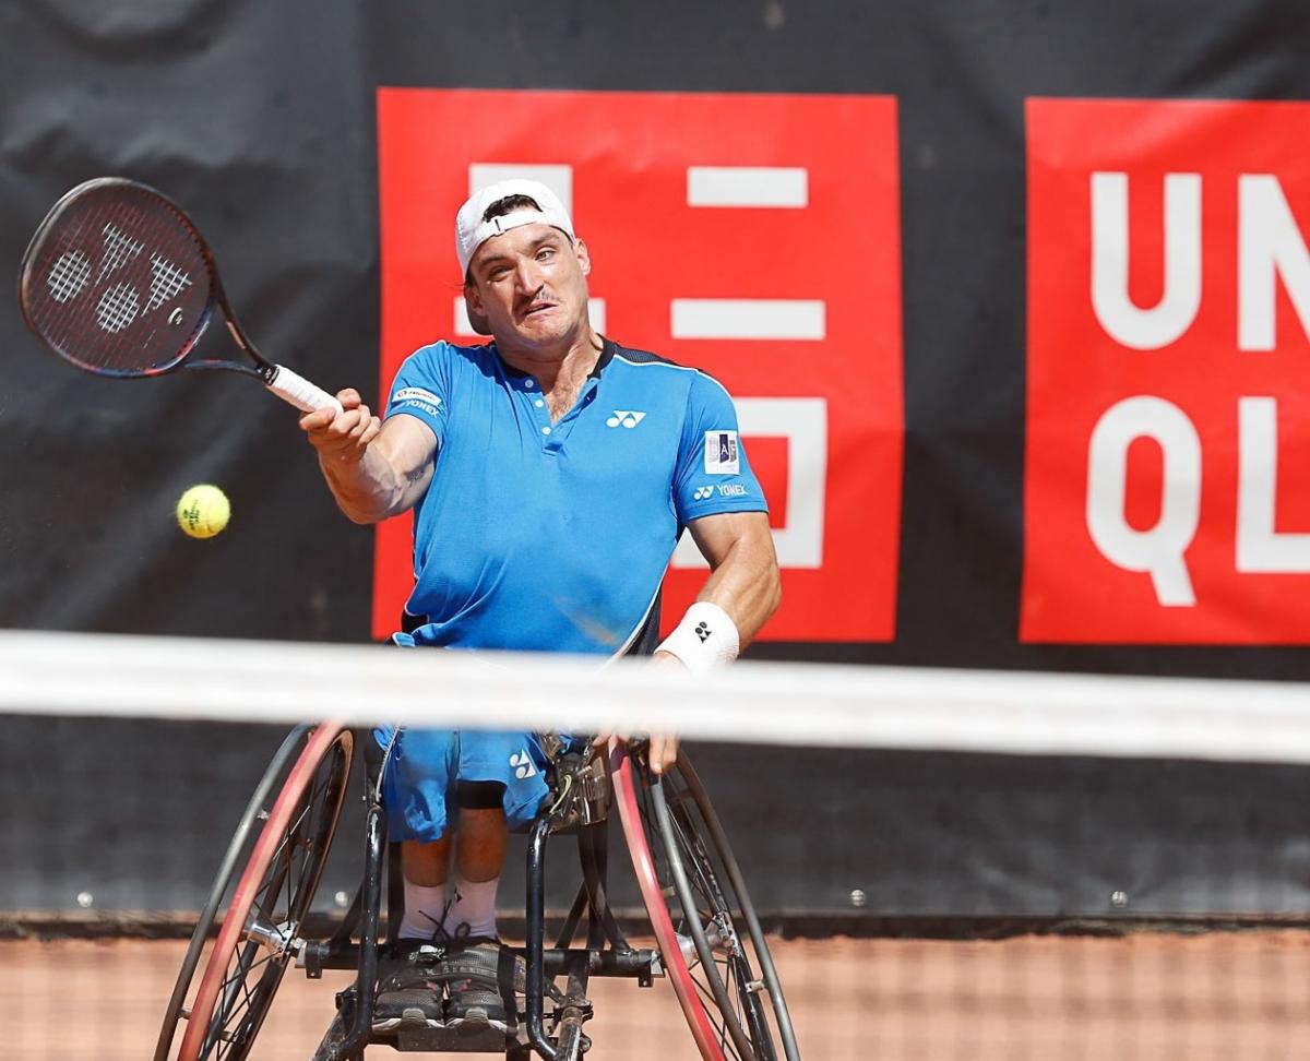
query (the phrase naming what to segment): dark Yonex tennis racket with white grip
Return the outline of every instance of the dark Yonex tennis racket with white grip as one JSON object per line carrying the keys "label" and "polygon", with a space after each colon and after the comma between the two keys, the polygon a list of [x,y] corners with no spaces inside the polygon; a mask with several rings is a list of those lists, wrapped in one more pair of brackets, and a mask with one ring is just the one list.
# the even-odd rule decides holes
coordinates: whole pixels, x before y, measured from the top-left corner
{"label": "dark Yonex tennis racket with white grip", "polygon": [[[261,356],[191,219],[136,181],[100,177],[55,203],[22,255],[18,305],[52,352],[97,376],[240,372],[304,413],[341,413],[326,390]],[[244,360],[193,356],[215,310]]]}

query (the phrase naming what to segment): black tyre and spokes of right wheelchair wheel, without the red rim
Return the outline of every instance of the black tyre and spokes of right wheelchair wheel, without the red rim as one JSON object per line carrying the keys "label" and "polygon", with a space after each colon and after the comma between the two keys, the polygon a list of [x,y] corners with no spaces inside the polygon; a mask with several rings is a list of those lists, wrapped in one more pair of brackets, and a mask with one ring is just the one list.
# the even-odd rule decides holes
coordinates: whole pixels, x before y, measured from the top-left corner
{"label": "black tyre and spokes of right wheelchair wheel, without the red rim", "polygon": [[645,762],[641,774],[656,874],[723,1056],[799,1061],[768,940],[705,786],[685,752],[663,775]]}

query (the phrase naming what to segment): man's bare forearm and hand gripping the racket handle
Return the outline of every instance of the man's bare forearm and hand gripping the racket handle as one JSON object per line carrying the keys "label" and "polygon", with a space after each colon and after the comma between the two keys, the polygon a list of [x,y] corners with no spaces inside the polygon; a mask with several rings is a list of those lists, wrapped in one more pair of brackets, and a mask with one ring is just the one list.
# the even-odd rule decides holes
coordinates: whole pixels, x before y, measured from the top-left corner
{"label": "man's bare forearm and hand gripping the racket handle", "polygon": [[341,414],[320,409],[300,418],[337,506],[354,523],[379,523],[411,508],[432,481],[432,428],[405,415],[383,423],[352,388],[337,398]]}

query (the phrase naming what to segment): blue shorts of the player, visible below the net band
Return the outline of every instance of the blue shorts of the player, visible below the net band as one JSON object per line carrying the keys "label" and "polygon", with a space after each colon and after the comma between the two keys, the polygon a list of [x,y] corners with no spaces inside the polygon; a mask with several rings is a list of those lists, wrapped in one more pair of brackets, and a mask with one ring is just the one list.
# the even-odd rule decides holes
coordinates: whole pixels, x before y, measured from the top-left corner
{"label": "blue shorts of the player, visible below the net band", "polygon": [[510,828],[524,828],[549,791],[542,773],[545,753],[536,734],[483,730],[373,730],[373,739],[390,754],[383,768],[383,806],[390,840],[431,842],[456,827],[458,781],[499,781],[504,785],[504,816]]}

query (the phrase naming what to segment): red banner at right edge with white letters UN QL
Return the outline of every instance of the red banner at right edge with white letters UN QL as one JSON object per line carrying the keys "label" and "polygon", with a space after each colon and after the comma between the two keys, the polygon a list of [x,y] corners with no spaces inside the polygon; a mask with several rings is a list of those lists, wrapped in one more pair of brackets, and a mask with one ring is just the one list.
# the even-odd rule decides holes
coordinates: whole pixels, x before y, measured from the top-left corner
{"label": "red banner at right edge with white letters UN QL", "polygon": [[1020,638],[1310,642],[1310,105],[1030,100],[1027,132]]}

